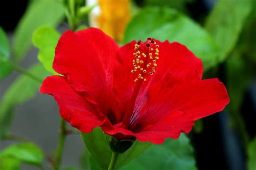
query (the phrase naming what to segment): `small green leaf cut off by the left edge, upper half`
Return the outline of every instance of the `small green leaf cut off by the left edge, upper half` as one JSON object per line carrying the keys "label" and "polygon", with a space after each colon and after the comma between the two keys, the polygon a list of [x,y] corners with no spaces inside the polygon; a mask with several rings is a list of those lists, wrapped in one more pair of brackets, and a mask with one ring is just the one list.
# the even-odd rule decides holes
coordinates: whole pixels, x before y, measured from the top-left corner
{"label": "small green leaf cut off by the left edge, upper half", "polygon": [[8,76],[11,73],[12,65],[9,62],[10,46],[8,38],[0,27],[0,79]]}

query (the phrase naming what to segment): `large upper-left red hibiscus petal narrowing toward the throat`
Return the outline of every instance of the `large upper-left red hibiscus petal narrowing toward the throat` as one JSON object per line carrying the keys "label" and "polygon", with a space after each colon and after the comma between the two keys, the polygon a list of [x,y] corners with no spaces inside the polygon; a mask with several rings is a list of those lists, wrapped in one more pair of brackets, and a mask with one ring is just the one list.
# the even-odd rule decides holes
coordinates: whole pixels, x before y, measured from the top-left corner
{"label": "large upper-left red hibiscus petal narrowing toward the throat", "polygon": [[116,105],[113,68],[118,49],[116,42],[99,29],[66,31],[57,44],[53,69],[68,77],[76,91],[86,91],[106,114]]}

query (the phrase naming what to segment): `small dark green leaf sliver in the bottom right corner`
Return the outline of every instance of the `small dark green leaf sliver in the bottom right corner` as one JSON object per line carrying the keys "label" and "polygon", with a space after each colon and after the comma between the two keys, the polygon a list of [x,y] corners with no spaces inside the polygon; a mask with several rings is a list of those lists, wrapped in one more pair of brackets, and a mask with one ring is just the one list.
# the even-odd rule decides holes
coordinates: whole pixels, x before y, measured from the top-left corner
{"label": "small dark green leaf sliver in the bottom right corner", "polygon": [[255,170],[256,169],[256,137],[247,146],[247,155],[248,155],[248,161],[247,161],[248,170]]}

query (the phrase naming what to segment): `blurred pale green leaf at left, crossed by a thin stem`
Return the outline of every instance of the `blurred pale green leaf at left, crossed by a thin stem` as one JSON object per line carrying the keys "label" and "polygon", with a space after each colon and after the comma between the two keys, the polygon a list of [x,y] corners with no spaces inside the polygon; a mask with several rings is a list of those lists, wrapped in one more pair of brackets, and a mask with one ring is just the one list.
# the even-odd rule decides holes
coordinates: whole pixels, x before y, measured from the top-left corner
{"label": "blurred pale green leaf at left, crossed by a thin stem", "polygon": [[[33,65],[29,72],[44,79],[49,75],[41,64]],[[25,75],[19,76],[5,91],[0,102],[0,139],[8,133],[16,105],[24,103],[39,92],[41,83]]]}

